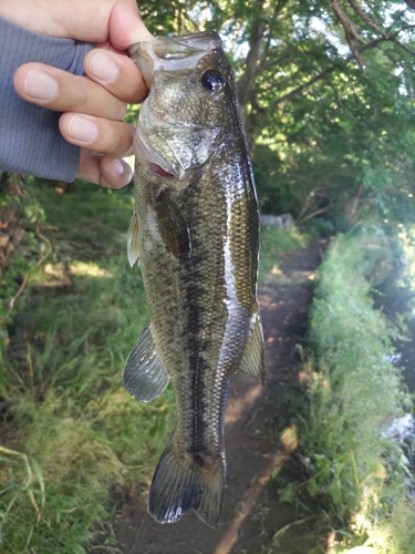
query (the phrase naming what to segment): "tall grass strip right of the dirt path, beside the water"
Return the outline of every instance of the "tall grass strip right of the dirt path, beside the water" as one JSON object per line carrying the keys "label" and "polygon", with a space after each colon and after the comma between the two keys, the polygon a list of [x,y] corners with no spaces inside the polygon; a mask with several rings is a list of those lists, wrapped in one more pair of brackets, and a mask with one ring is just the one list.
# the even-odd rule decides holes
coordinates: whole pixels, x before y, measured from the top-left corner
{"label": "tall grass strip right of the dirt path, beside the water", "polygon": [[[346,235],[332,242],[310,315],[311,352],[300,373],[307,389],[288,407],[298,423],[302,479],[280,492],[290,486],[291,499],[311,499],[330,525],[342,530],[332,552],[369,544],[378,522],[392,522],[394,506],[405,505],[412,481],[408,460],[388,433],[412,402],[391,361],[398,332],[374,309],[371,295],[382,250],[387,254],[380,237]],[[405,514],[414,526],[415,516]]]}

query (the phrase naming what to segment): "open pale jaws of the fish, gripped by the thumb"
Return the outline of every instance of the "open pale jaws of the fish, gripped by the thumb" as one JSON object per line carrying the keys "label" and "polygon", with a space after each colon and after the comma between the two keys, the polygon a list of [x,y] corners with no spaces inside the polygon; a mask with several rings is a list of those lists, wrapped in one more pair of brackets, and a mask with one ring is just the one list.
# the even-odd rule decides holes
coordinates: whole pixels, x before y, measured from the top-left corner
{"label": "open pale jaws of the fish, gripped by the thumb", "polygon": [[151,41],[137,42],[128,53],[139,69],[148,86],[157,71],[180,71],[196,68],[209,51],[221,48],[221,40],[215,31],[184,34],[175,39],[156,37]]}

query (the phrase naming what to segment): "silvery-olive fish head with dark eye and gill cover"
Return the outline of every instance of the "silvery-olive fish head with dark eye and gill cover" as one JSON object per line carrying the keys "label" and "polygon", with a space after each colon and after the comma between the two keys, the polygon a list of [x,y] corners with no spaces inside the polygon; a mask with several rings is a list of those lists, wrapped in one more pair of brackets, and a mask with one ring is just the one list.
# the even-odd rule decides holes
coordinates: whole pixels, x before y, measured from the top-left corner
{"label": "silvery-olive fish head with dark eye and gill cover", "polygon": [[158,37],[134,44],[129,54],[149,88],[135,155],[148,173],[183,188],[218,150],[227,106],[235,103],[221,40],[216,32]]}

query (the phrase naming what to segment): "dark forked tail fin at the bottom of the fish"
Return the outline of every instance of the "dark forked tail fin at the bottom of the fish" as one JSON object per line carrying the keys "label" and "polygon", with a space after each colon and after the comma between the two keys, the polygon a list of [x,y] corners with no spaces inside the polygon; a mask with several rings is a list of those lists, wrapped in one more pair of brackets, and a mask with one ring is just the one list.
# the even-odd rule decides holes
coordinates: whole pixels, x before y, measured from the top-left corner
{"label": "dark forked tail fin at the bottom of the fish", "polygon": [[211,527],[218,523],[225,486],[225,460],[215,468],[177,460],[170,442],[162,454],[148,495],[148,513],[159,523],[174,523],[189,510]]}

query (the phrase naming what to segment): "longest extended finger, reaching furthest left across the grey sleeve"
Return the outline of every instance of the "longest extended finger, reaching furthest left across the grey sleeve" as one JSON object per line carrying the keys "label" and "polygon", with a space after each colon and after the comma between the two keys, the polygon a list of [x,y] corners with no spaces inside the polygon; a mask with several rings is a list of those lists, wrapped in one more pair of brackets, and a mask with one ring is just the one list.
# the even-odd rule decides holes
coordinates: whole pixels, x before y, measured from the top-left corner
{"label": "longest extended finger, reaching furthest left across the grey sleeve", "polygon": [[126,103],[86,76],[72,75],[44,63],[25,63],[13,76],[23,100],[58,112],[79,112],[122,120]]}

